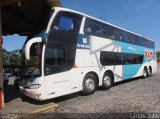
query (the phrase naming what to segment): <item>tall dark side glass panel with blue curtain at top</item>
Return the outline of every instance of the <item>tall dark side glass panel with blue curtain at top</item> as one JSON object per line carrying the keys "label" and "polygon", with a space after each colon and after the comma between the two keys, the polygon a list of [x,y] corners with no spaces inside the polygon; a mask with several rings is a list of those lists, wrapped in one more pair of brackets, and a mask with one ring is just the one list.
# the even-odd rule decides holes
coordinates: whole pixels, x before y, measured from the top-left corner
{"label": "tall dark side glass panel with blue curtain at top", "polygon": [[45,75],[70,70],[75,62],[82,16],[60,11],[54,18],[45,50]]}

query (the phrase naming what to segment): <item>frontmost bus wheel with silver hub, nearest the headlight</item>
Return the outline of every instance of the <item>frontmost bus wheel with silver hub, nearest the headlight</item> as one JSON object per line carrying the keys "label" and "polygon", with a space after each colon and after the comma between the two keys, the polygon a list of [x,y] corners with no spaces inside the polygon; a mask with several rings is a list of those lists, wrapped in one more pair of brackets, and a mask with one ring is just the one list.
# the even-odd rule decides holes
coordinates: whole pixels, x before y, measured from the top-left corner
{"label": "frontmost bus wheel with silver hub, nearest the headlight", "polygon": [[92,73],[86,74],[83,79],[83,95],[91,95],[97,90],[97,80]]}

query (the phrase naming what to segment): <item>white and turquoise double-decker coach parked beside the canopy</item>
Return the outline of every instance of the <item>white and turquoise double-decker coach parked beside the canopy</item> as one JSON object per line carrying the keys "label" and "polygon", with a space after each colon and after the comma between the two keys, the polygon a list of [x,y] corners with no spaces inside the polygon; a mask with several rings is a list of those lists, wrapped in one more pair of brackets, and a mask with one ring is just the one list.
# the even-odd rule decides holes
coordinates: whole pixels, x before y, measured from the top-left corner
{"label": "white and turquoise double-decker coach parked beside the canopy", "polygon": [[46,30],[24,46],[20,91],[36,100],[151,76],[157,69],[152,40],[88,15],[55,7]]}

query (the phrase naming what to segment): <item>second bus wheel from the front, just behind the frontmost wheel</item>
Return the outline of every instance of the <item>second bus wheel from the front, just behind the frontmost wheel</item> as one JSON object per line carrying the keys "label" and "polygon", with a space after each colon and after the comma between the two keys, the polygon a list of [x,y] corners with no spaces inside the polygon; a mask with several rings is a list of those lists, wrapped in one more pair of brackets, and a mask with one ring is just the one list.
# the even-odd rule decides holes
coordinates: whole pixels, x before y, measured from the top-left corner
{"label": "second bus wheel from the front, just behind the frontmost wheel", "polygon": [[109,72],[106,72],[103,76],[102,89],[108,90],[113,85],[113,75]]}

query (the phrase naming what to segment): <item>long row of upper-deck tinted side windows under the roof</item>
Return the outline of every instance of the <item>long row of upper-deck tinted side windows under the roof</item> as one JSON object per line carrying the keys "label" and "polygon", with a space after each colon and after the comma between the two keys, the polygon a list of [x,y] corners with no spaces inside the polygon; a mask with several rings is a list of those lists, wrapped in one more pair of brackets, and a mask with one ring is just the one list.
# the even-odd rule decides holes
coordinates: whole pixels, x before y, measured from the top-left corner
{"label": "long row of upper-deck tinted side windows under the roof", "polygon": [[84,33],[143,47],[154,48],[154,43],[151,43],[152,41],[148,39],[90,18],[86,18]]}

